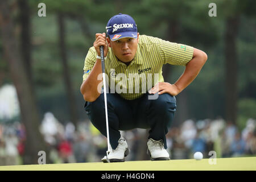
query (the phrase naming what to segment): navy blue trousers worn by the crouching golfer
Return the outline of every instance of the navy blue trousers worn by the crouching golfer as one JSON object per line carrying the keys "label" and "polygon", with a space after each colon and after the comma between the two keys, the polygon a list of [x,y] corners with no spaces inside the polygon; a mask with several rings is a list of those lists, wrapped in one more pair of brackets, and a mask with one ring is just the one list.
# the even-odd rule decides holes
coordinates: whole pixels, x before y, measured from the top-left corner
{"label": "navy blue trousers worn by the crouching golfer", "polygon": [[[176,98],[170,94],[160,94],[156,100],[148,100],[148,94],[135,100],[125,100],[117,93],[107,93],[109,141],[113,149],[118,146],[120,130],[135,128],[150,129],[149,138],[162,139],[167,148],[166,134],[176,111]],[[85,111],[92,124],[106,134],[104,94],[94,102],[85,102]]]}

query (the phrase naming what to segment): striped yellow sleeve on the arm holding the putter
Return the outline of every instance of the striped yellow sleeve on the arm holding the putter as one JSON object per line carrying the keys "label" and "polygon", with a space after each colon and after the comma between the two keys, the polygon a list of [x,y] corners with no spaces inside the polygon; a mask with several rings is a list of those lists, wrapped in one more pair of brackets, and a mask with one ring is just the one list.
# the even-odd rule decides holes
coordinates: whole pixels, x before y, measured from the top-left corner
{"label": "striped yellow sleeve on the arm holding the putter", "polygon": [[96,50],[91,47],[85,57],[84,61],[84,75],[82,76],[82,81],[84,81],[92,71],[94,64],[96,63]]}

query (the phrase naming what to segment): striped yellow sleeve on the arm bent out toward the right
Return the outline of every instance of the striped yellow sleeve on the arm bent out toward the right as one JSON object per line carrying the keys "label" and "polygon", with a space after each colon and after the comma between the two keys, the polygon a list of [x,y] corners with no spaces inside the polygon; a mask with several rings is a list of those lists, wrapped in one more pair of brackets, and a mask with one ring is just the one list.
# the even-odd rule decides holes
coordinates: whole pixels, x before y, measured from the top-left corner
{"label": "striped yellow sleeve on the arm bent out toward the right", "polygon": [[193,57],[194,48],[162,40],[159,43],[159,51],[164,60],[163,64],[186,65]]}

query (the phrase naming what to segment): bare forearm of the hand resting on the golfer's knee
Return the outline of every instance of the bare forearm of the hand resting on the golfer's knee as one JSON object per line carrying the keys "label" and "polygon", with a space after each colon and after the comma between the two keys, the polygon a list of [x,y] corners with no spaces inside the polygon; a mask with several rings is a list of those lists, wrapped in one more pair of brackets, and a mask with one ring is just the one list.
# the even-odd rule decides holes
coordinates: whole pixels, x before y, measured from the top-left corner
{"label": "bare forearm of the hand resting on the golfer's knee", "polygon": [[185,71],[174,84],[176,85],[179,93],[191,84],[193,80],[195,80],[206,61],[207,55],[203,51],[198,52],[197,49],[196,56],[188,62]]}

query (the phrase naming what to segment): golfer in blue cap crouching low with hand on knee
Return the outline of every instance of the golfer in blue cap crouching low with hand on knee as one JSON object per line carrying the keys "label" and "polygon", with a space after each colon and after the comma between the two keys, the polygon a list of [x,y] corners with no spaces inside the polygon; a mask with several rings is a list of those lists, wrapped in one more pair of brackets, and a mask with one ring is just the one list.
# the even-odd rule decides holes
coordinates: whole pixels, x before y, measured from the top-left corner
{"label": "golfer in blue cap crouching low with hand on knee", "polygon": [[[110,162],[125,161],[129,147],[120,130],[135,128],[150,129],[147,154],[151,160],[169,160],[166,134],[176,111],[175,96],[196,78],[207,55],[184,44],[139,35],[137,25],[129,15],[118,14],[110,18],[106,34],[96,34],[93,47],[86,55],[81,85],[85,111],[105,137],[100,46],[104,46],[108,82]],[[164,82],[162,66],[167,63],[185,66],[174,84]]]}

